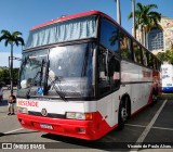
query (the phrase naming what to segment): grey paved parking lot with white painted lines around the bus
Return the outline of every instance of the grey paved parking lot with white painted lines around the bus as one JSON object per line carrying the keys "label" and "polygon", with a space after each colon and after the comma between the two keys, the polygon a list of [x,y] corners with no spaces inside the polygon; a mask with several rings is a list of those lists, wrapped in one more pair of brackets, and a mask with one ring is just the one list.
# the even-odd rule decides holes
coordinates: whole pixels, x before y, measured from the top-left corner
{"label": "grey paved parking lot with white painted lines around the bus", "polygon": [[118,148],[123,151],[173,151],[172,94],[164,94],[156,105],[133,116],[123,130],[114,129],[101,140],[91,142],[22,128],[16,115],[6,115],[9,93],[4,90],[4,101],[0,103],[0,148],[4,142],[17,143],[13,144],[16,148],[13,151],[18,151],[19,142],[23,142],[23,148],[31,142],[51,148],[50,151],[119,151]]}

